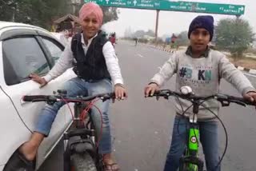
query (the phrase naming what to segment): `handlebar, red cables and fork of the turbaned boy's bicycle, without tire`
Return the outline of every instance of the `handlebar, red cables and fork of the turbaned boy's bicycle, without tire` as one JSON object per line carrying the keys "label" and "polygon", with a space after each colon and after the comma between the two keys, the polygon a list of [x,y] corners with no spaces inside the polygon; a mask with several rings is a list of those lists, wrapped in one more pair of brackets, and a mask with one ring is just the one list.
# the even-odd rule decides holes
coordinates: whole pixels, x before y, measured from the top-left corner
{"label": "handlebar, red cables and fork of the turbaned boy's bicycle, without tire", "polygon": [[[55,94],[56,92],[54,92]],[[101,171],[103,168],[102,165],[102,155],[98,153],[98,143],[96,145],[96,141],[98,141],[97,134],[95,133],[95,126],[90,116],[90,112],[88,114],[89,120],[83,121],[84,115],[82,111],[84,109],[89,109],[94,105],[94,99],[98,98],[98,100],[106,101],[109,99],[113,99],[115,97],[114,93],[99,93],[94,96],[88,97],[66,97],[65,89],[58,89],[57,95],[32,95],[32,96],[23,96],[22,101],[46,101],[48,105],[54,105],[57,101],[65,101],[66,103],[72,102],[74,103],[74,117],[73,123],[70,126],[70,129],[67,130],[63,135],[63,143],[64,143],[64,171],[70,171],[70,159],[72,154],[88,154],[90,155],[91,163],[94,162],[94,166]],[[88,107],[84,102],[91,101]],[[97,108],[97,107],[96,107]],[[97,108],[98,109],[98,108]],[[101,111],[98,109],[99,113]],[[87,111],[88,112],[88,111]],[[71,112],[72,113],[72,112]]]}

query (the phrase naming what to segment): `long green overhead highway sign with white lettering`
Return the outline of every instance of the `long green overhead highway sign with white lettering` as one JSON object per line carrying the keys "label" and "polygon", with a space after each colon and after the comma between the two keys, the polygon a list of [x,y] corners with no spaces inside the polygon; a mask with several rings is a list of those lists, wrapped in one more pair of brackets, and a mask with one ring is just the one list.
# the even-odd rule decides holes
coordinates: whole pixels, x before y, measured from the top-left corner
{"label": "long green overhead highway sign with white lettering", "polygon": [[84,2],[95,2],[100,6],[146,10],[172,10],[230,15],[242,15],[245,13],[245,6],[220,3],[182,2],[171,0],[84,0]]}

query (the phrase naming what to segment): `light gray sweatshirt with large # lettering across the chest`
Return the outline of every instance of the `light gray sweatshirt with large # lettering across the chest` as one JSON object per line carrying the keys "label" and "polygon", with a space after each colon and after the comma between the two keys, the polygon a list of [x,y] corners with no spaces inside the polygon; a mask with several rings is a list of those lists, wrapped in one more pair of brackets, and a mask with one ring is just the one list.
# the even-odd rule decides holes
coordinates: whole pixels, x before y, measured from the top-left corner
{"label": "light gray sweatshirt with large # lettering across the chest", "polygon": [[[249,91],[255,91],[250,81],[229,62],[226,56],[216,50],[206,50],[202,58],[191,58],[190,47],[187,50],[181,50],[173,54],[170,59],[162,66],[158,74],[154,75],[151,82],[156,82],[159,86],[164,85],[174,74],[176,77],[176,91],[188,85],[193,89],[195,95],[206,97],[218,93],[221,78],[234,85],[239,93],[244,94]],[[183,109],[191,105],[190,101],[182,100]],[[203,103],[214,113],[218,114],[218,101],[210,100]],[[182,108],[179,101],[175,102],[176,111],[182,114]],[[192,112],[190,108],[186,113],[189,117]],[[214,115],[202,106],[199,108],[198,120],[209,120]]]}

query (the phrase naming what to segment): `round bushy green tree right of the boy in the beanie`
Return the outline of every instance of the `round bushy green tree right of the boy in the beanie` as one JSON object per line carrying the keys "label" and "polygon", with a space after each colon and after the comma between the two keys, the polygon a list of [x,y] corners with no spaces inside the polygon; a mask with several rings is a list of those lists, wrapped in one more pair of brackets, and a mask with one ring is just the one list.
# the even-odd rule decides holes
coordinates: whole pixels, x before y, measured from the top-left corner
{"label": "round bushy green tree right of the boy in the beanie", "polygon": [[226,18],[216,27],[216,46],[220,50],[229,50],[236,60],[242,58],[254,40],[254,33],[249,22],[240,18]]}

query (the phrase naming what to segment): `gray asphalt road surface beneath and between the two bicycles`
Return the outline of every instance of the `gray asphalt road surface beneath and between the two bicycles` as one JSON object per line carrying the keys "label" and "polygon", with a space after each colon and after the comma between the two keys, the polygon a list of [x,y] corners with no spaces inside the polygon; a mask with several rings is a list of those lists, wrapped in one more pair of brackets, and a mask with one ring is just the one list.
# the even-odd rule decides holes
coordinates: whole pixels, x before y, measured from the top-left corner
{"label": "gray asphalt road surface beneath and between the two bicycles", "polygon": [[[170,54],[133,42],[118,42],[116,46],[122,76],[129,97],[111,105],[113,148],[122,171],[161,171],[170,145],[174,121],[172,101],[144,98],[143,89],[159,66]],[[250,77],[256,86],[256,78]],[[165,88],[174,89],[175,78]],[[226,81],[222,93],[239,95]],[[230,105],[220,110],[229,138],[222,170],[254,171],[256,153],[256,111],[253,107]],[[225,147],[225,134],[219,126],[220,151]],[[60,143],[39,171],[62,170],[62,144]]]}

